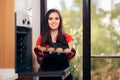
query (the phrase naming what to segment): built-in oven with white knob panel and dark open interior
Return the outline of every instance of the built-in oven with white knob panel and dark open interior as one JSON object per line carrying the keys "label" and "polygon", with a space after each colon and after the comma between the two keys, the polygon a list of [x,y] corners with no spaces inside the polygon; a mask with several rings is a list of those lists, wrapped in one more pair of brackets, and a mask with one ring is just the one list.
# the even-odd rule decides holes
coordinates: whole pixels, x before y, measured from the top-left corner
{"label": "built-in oven with white knob panel and dark open interior", "polygon": [[32,72],[32,25],[31,17],[15,13],[15,72],[18,75]]}

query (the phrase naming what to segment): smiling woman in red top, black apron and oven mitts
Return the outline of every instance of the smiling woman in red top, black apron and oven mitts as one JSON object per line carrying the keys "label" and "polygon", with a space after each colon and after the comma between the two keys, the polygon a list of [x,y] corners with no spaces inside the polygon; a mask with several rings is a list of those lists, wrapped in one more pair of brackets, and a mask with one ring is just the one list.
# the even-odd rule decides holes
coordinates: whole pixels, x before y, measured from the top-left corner
{"label": "smiling woman in red top, black apron and oven mitts", "polygon": [[[38,37],[35,54],[42,57],[41,70],[57,71],[63,70],[69,66],[69,61],[75,56],[73,49],[74,40],[70,34],[63,30],[63,22],[60,12],[56,9],[50,9],[45,16],[45,26],[42,34]],[[66,55],[48,55],[42,51],[65,53]],[[39,62],[39,61],[38,61]],[[60,80],[59,78],[40,78],[40,80]],[[65,80],[72,80],[70,74]]]}

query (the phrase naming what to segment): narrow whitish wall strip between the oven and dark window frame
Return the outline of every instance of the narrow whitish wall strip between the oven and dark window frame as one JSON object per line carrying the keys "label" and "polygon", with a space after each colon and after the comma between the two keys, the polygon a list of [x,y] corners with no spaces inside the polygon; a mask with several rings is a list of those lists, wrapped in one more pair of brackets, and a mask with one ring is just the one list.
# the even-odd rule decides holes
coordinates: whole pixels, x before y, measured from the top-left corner
{"label": "narrow whitish wall strip between the oven and dark window frame", "polygon": [[[36,45],[36,40],[40,35],[40,0],[33,2],[33,48]],[[33,52],[33,69],[37,72],[39,64],[37,63],[36,55]],[[33,80],[38,80],[38,77],[33,77]]]}

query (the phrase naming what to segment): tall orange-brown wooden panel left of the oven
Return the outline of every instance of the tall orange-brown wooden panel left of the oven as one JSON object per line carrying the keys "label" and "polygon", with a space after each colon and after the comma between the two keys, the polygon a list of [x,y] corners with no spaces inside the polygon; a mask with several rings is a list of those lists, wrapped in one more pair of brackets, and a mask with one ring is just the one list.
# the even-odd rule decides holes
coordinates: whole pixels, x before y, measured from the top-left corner
{"label": "tall orange-brown wooden panel left of the oven", "polygon": [[0,0],[0,68],[14,68],[14,0]]}

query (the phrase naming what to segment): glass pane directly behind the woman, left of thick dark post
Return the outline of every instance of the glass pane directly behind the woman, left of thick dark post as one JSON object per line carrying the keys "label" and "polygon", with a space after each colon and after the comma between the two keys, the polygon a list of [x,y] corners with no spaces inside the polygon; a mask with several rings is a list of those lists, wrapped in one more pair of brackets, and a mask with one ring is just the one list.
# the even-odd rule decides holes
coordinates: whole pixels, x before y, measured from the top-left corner
{"label": "glass pane directly behind the woman, left of thick dark post", "polygon": [[47,0],[47,10],[61,12],[65,32],[74,37],[76,56],[70,62],[74,80],[82,80],[82,0]]}

